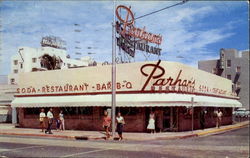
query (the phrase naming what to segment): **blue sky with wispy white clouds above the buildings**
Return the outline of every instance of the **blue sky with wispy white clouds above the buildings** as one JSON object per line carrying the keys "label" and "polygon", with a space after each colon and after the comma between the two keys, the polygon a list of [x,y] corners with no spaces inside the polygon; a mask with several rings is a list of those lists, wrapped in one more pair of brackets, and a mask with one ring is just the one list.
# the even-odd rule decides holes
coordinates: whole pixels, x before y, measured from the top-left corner
{"label": "blue sky with wispy white clouds above the buildings", "polygon": [[[39,48],[41,38],[48,35],[65,40],[71,58],[91,56],[97,62],[111,62],[114,4],[131,6],[139,17],[179,2],[0,1],[0,75],[10,73],[10,59],[18,47]],[[198,67],[199,60],[219,58],[221,48],[249,49],[248,5],[247,1],[187,1],[138,19],[136,27],[163,36],[162,55],[136,51],[132,61],[161,59]],[[122,53],[118,47],[116,52]]]}

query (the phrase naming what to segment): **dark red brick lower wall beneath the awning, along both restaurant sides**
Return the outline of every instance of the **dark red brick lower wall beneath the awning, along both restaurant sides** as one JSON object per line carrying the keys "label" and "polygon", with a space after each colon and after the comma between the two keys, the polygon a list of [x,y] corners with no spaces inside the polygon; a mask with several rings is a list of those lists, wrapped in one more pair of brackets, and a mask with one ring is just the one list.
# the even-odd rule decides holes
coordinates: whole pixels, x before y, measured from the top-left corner
{"label": "dark red brick lower wall beneath the awning, along both restaurant sides", "polygon": [[[58,116],[59,108],[53,108],[54,117]],[[194,114],[194,130],[200,129],[200,118],[199,112],[201,108],[195,108]],[[224,109],[222,109],[224,110]],[[180,112],[178,113],[178,131],[188,131],[192,129],[192,117],[191,115],[185,115]],[[102,131],[102,118],[103,109],[101,107],[93,108],[93,115],[65,115],[65,128],[70,130],[88,130],[88,131]],[[227,109],[227,115],[222,118],[222,125],[232,124],[232,109]],[[126,115],[123,116],[125,119],[125,132],[146,132],[148,117],[146,116],[146,108],[140,108],[137,115]],[[158,108],[155,111],[156,114],[156,128],[162,128],[163,126],[163,111]],[[224,113],[223,113],[224,114]],[[216,116],[215,115],[205,115],[205,128],[216,126]],[[39,128],[39,116],[38,115],[26,115],[24,116],[24,110],[19,109],[19,124],[20,127],[24,128]],[[47,125],[47,123],[46,123]],[[56,128],[56,123],[52,126]]]}

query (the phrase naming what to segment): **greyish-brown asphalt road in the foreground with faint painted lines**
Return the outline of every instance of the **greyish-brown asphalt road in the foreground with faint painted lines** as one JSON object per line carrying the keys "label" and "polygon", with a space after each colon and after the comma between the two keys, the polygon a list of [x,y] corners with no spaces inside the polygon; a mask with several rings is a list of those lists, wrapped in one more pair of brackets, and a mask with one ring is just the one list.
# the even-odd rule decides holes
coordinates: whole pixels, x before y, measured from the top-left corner
{"label": "greyish-brown asphalt road in the foreground with faint painted lines", "polygon": [[143,142],[0,136],[0,157],[248,158],[249,127],[205,137]]}

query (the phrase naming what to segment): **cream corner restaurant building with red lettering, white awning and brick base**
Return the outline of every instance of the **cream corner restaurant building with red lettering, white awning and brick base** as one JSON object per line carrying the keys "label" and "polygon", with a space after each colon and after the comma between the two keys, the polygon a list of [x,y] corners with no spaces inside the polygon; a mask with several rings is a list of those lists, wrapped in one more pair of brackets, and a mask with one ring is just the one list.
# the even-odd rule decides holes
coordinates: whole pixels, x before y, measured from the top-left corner
{"label": "cream corner restaurant building with red lettering, white awning and brick base", "polygon": [[[146,132],[154,111],[157,131],[200,129],[232,124],[232,109],[241,107],[232,82],[214,74],[168,61],[117,64],[116,111],[124,116],[124,131]],[[103,130],[104,110],[111,108],[111,65],[19,74],[19,87],[11,103],[19,126],[39,127],[39,111],[53,108],[65,114],[66,129]]]}

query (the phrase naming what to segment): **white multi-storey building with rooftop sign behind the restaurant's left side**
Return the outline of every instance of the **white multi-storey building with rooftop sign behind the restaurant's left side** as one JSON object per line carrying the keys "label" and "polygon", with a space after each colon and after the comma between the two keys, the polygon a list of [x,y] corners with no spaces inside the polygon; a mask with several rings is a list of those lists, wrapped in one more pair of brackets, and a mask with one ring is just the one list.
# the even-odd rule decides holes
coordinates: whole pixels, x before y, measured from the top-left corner
{"label": "white multi-storey building with rooftop sign behind the restaurant's left side", "polygon": [[67,55],[63,41],[58,37],[47,36],[41,41],[41,48],[19,47],[16,55],[11,57],[11,73],[8,84],[18,84],[18,74],[22,72],[68,69],[95,65],[90,57],[80,60]]}

